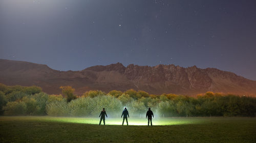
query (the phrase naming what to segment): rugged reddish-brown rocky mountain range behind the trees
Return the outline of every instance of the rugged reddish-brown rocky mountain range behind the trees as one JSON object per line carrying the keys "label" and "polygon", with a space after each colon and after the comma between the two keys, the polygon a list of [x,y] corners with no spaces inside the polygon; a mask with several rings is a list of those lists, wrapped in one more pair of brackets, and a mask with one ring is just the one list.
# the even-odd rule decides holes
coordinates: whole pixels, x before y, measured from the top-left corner
{"label": "rugged reddish-brown rocky mountain range behind the trees", "polygon": [[37,85],[48,94],[60,94],[70,85],[76,94],[89,90],[142,90],[150,94],[196,95],[207,91],[256,95],[256,81],[215,68],[183,68],[175,65],[138,66],[121,63],[93,66],[81,71],[58,71],[47,65],[0,59],[0,82]]}

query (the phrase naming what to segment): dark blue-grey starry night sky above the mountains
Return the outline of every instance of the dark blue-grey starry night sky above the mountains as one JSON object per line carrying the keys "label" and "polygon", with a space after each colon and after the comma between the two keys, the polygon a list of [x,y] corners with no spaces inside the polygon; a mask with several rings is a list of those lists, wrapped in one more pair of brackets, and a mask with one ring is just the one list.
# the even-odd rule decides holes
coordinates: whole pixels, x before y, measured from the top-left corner
{"label": "dark blue-grey starry night sky above the mountains", "polygon": [[0,0],[0,59],[61,71],[196,65],[256,80],[255,8],[255,0]]}

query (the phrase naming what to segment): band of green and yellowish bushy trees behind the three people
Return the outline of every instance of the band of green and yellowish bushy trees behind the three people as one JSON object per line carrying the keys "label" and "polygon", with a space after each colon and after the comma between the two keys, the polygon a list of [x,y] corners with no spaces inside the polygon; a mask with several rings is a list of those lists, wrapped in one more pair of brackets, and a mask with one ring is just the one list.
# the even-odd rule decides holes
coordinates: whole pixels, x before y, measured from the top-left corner
{"label": "band of green and yellowish bushy trees behind the three people", "polygon": [[152,95],[144,91],[87,91],[75,95],[70,86],[62,94],[49,95],[40,87],[7,86],[0,83],[0,114],[7,116],[97,117],[104,107],[110,117],[119,117],[124,107],[131,116],[144,116],[148,107],[158,117],[244,116],[255,117],[256,98],[206,92],[189,97],[176,94]]}

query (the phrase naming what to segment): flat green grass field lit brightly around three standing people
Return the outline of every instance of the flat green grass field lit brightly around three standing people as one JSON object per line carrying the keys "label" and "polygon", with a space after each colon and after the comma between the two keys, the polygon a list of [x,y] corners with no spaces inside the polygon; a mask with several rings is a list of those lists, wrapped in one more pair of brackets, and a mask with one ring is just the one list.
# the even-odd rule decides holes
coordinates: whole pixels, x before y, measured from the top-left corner
{"label": "flat green grass field lit brightly around three standing people", "polygon": [[256,142],[256,118],[0,117],[0,142]]}

